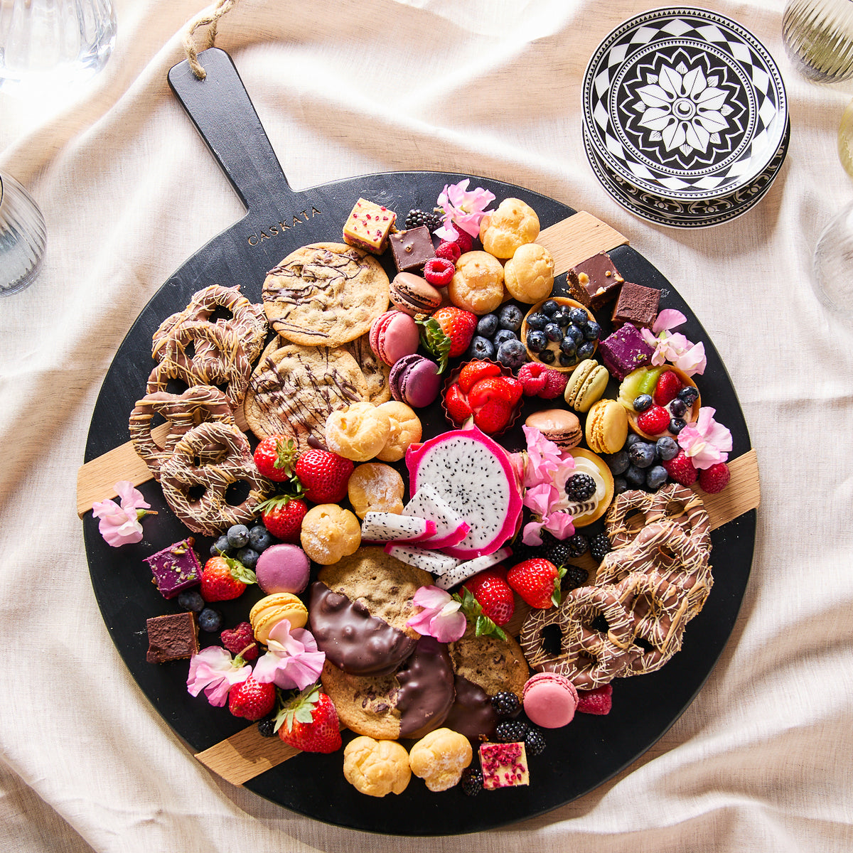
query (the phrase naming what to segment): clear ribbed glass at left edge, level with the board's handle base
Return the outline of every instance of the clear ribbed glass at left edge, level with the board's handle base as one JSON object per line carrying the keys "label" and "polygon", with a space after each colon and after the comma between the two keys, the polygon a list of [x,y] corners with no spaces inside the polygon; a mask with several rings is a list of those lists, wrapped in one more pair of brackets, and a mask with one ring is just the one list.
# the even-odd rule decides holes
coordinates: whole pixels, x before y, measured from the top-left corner
{"label": "clear ribbed glass at left edge, level with the board's handle base", "polygon": [[0,173],[0,296],[32,284],[46,243],[38,205],[14,177]]}

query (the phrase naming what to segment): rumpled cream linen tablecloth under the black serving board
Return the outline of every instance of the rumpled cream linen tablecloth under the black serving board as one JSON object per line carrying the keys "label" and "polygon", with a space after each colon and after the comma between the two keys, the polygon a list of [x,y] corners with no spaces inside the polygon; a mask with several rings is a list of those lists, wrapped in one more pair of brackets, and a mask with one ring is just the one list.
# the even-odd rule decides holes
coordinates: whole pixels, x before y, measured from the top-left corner
{"label": "rumpled cream linen tablecloth under the black serving board", "polygon": [[700,4],[775,56],[792,134],[756,208],[692,231],[624,212],[583,154],[589,55],[653,3],[242,0],[219,24],[294,188],[461,171],[588,210],[676,284],[740,395],[763,503],[717,668],[614,780],[482,837],[371,837],[218,780],[148,705],[98,612],[74,512],[97,393],[148,299],[242,215],[166,84],[201,3],[118,0],[116,49],[90,85],[49,105],[0,92],[0,168],[49,231],[38,280],[0,300],[0,849],[853,850],[853,324],[809,284],[817,236],[853,198],[835,149],[853,90],[796,73],[781,0]]}

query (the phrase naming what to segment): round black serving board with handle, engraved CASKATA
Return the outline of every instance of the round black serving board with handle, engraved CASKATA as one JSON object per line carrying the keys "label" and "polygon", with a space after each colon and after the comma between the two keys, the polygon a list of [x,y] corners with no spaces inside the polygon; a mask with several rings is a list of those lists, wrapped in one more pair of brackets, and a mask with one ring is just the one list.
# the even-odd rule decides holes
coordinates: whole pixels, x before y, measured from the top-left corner
{"label": "round black serving board with handle, engraved CASKATA", "polygon": [[[240,283],[243,293],[259,301],[266,271],[288,252],[310,242],[339,241],[342,223],[359,196],[384,204],[403,217],[413,207],[432,208],[446,183],[468,177],[444,172],[390,172],[294,193],[229,56],[210,49],[201,57],[206,80],[196,80],[183,62],[171,70],[170,83],[245,201],[248,213],[189,258],[142,310],[104,380],[92,416],[86,461],[128,440],[128,415],[136,399],[144,394],[153,366],[151,335],[165,316],[187,304],[194,291],[213,283]],[[574,213],[558,201],[512,184],[481,177],[473,177],[472,182],[473,186],[490,189],[497,200],[510,195],[525,200],[537,211],[543,229]],[[611,254],[626,279],[660,288],[661,307],[677,308],[688,316],[680,331],[689,339],[704,341],[708,356],[708,368],[699,377],[703,403],[714,406],[719,420],[731,430],[732,458],[746,453],[750,449],[746,423],[705,330],[669,281],[638,252],[623,246]],[[392,273],[391,262],[384,260]],[[565,275],[558,279],[557,291],[562,287]],[[604,326],[609,331],[609,323]],[[613,384],[609,393],[615,393]],[[531,404],[525,405],[526,413]],[[438,404],[422,414],[427,435],[449,428]],[[501,439],[509,450],[522,446],[522,420]],[[92,514],[84,516],[92,585],[107,629],[139,687],[171,728],[194,751],[203,751],[245,728],[247,721],[232,717],[227,708],[212,707],[203,695],[191,697],[185,684],[186,661],[157,665],[145,660],[146,619],[179,612],[179,608],[176,601],[165,601],[156,591],[143,558],[182,539],[187,531],[166,507],[154,480],[140,489],[160,512],[144,519],[141,543],[110,548],[99,535]],[[689,626],[681,653],[651,675],[617,680],[608,716],[578,714],[570,726],[549,731],[546,751],[530,759],[529,787],[482,792],[469,798],[458,787],[440,794],[429,792],[421,780],[413,778],[399,797],[370,798],[345,781],[340,751],[328,756],[301,754],[246,786],[320,821],[401,835],[444,835],[498,827],[580,797],[633,762],[670,728],[722,652],[749,577],[755,512],[724,525],[711,539],[712,562],[721,570],[716,572],[705,609]],[[209,540],[197,540],[197,550],[204,559]],[[257,588],[250,588],[237,601],[224,602],[220,609],[226,624],[233,626],[246,619],[252,603],[261,595]],[[201,635],[202,646],[217,640],[217,635]],[[344,734],[345,740],[352,736]]]}

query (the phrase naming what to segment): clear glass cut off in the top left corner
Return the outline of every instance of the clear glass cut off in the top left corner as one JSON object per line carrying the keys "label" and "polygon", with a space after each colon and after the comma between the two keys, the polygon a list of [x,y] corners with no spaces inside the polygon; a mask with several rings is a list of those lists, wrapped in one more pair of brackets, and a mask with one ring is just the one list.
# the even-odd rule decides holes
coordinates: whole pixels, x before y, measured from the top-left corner
{"label": "clear glass cut off in the top left corner", "polygon": [[0,90],[78,83],[107,64],[113,0],[0,0]]}

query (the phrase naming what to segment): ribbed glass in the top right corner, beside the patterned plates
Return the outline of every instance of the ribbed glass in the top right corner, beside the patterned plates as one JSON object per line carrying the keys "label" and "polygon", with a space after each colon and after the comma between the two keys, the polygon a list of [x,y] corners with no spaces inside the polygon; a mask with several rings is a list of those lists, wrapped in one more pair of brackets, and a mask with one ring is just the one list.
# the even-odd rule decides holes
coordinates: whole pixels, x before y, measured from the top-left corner
{"label": "ribbed glass in the top right corner, beside the patterned plates", "polygon": [[787,55],[809,79],[853,77],[853,0],[788,0],[782,36]]}

